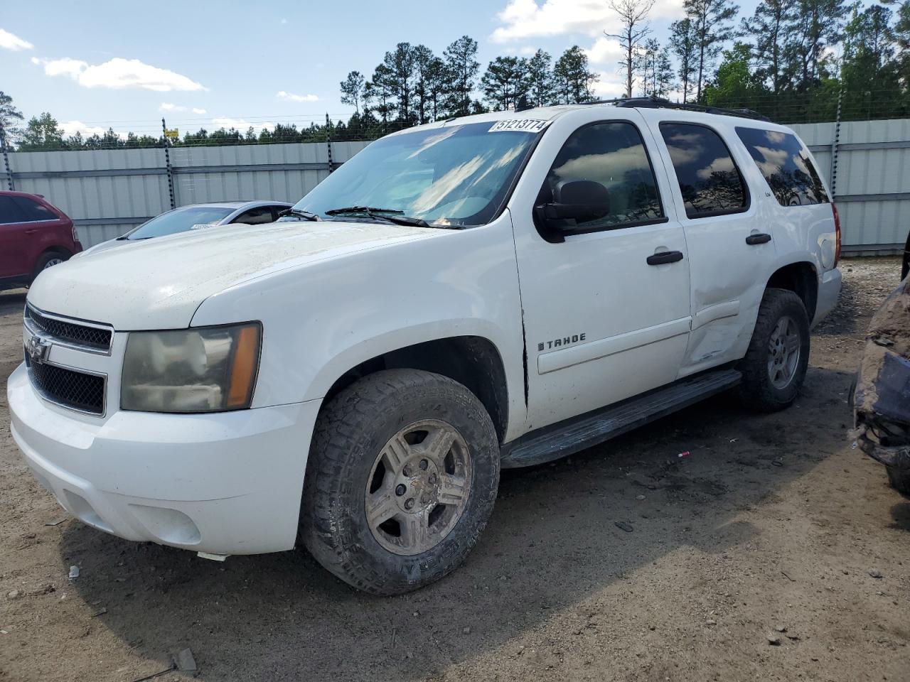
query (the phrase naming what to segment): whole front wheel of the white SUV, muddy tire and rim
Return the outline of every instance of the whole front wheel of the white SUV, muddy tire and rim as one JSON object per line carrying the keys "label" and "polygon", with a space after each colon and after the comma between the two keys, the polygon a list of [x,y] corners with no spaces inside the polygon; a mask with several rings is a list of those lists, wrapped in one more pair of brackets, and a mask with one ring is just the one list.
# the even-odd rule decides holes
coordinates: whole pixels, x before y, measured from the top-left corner
{"label": "whole front wheel of the white SUV, muddy tire and rim", "polygon": [[300,540],[354,587],[408,592],[467,557],[499,478],[496,431],[465,386],[418,370],[378,372],[319,416]]}

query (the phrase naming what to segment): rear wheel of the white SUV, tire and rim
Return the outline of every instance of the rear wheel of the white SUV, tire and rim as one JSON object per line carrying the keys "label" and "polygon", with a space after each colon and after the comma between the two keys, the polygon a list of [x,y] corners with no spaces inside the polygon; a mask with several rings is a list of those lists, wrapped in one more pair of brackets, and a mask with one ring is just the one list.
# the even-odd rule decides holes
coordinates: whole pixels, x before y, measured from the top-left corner
{"label": "rear wheel of the white SUV, tire and rim", "polygon": [[758,309],[743,372],[743,402],[764,412],[790,406],[809,366],[809,316],[803,300],[786,289],[766,289]]}

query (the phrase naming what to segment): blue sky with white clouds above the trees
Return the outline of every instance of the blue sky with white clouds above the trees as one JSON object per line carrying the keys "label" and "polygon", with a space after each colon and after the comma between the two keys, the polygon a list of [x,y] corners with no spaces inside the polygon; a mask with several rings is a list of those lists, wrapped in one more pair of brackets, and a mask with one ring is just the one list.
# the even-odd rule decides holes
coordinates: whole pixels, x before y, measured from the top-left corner
{"label": "blue sky with white clouds above the trees", "polygon": [[[743,0],[751,15],[756,0]],[[89,9],[90,8],[90,9]],[[662,41],[682,0],[656,0]],[[384,0],[346,3],[204,0],[153,5],[92,0],[5,3],[0,89],[28,116],[49,111],[67,133],[157,134],[160,118],[181,134],[205,126],[308,125],[347,118],[339,81],[369,78],[386,50],[407,41],[437,54],[460,35],[480,44],[481,70],[496,55],[588,51],[597,92],[622,91],[615,19],[605,0]]]}

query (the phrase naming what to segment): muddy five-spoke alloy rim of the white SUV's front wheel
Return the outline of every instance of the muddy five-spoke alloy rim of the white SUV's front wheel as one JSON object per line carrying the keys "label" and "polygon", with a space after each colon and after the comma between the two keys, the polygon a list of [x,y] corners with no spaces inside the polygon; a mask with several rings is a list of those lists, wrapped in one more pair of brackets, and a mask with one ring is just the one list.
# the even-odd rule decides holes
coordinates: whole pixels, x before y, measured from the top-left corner
{"label": "muddy five-spoke alloy rim of the white SUV's front wheel", "polygon": [[402,428],[379,451],[367,479],[367,525],[379,545],[421,554],[449,535],[470,495],[468,444],[437,419]]}

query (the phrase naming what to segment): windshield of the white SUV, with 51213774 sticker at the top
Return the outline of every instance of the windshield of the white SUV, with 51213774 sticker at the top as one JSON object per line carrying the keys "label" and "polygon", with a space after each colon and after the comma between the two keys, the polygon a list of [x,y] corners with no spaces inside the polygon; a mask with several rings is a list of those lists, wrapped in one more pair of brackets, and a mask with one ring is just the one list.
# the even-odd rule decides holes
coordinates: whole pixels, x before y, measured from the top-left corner
{"label": "windshield of the white SUV, with 51213774 sticker at the top", "polygon": [[377,206],[430,226],[483,225],[496,216],[543,127],[509,130],[490,121],[384,137],[294,208],[326,217],[333,209]]}

